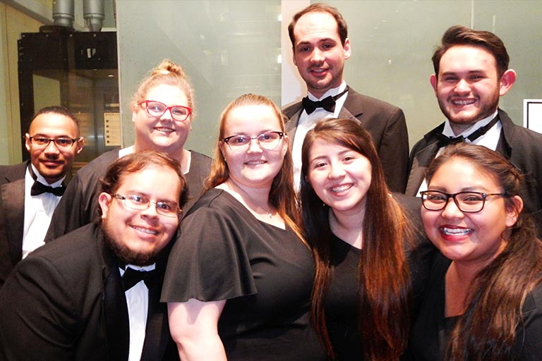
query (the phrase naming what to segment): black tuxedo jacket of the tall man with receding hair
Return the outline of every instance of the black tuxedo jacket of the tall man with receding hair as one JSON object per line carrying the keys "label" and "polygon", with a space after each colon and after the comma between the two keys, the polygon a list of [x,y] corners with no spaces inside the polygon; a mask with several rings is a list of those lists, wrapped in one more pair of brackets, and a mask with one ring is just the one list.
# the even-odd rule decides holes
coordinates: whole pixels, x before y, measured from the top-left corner
{"label": "black tuxedo jacket of the tall man with receding hair", "polygon": [[[294,144],[297,123],[303,112],[301,102],[282,109],[288,118],[286,130]],[[387,185],[394,192],[404,192],[409,162],[409,134],[404,113],[397,106],[359,94],[351,87],[339,118],[355,121],[373,137]]]}

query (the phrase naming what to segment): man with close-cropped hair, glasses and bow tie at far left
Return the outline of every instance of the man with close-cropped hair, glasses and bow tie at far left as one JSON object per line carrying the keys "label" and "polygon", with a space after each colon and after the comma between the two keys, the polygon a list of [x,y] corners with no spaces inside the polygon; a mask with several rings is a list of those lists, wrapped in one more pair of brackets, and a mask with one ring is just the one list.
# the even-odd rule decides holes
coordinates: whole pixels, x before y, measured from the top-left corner
{"label": "man with close-cropped hair, glasses and bow tie at far left", "polygon": [[44,244],[83,137],[68,109],[48,106],[32,119],[25,146],[29,161],[0,166],[0,287],[20,259]]}

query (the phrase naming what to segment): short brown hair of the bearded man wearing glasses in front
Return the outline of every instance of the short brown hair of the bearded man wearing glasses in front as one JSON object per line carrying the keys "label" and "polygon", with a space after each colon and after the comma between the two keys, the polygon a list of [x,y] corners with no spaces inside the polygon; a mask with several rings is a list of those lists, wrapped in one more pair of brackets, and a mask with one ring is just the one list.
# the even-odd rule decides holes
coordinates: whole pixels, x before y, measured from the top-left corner
{"label": "short brown hair of the bearded man wearing glasses in front", "polygon": [[[121,178],[127,174],[137,173],[145,168],[164,167],[174,171],[179,176],[181,182],[181,191],[179,193],[179,208],[182,209],[188,200],[188,185],[184,177],[181,164],[176,159],[170,158],[164,152],[156,152],[154,150],[145,150],[127,154],[124,157],[116,159],[109,168],[107,173],[100,179],[102,187],[100,192],[106,192],[114,195],[121,187]],[[100,217],[102,216],[102,207],[98,207]]]}

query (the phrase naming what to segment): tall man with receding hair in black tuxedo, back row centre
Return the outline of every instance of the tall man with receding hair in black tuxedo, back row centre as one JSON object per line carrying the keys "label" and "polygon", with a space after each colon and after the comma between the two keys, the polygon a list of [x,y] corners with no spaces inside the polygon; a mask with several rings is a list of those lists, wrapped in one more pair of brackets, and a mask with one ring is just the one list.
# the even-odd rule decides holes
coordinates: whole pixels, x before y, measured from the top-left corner
{"label": "tall man with receding hair in black tuxedo, back row centre", "polygon": [[301,145],[317,121],[345,118],[373,137],[390,190],[404,192],[409,137],[403,111],[354,91],[343,80],[344,62],[351,55],[347,23],[337,8],[312,4],[294,15],[288,27],[294,64],[308,90],[302,102],[282,110],[292,144],[294,181],[301,174]]}

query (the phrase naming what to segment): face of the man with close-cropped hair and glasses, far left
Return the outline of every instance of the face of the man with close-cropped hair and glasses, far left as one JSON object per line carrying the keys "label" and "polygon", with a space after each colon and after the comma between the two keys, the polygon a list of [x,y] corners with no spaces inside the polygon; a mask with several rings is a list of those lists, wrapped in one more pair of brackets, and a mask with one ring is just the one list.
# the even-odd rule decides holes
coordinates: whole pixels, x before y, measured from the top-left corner
{"label": "face of the man with close-cropped hair and glasses, far left", "polygon": [[42,147],[32,145],[30,137],[76,139],[79,137],[76,123],[63,114],[43,113],[32,121],[28,132],[25,135],[25,146],[30,152],[32,165],[42,177],[51,184],[66,176],[73,158],[83,150],[83,140],[77,140],[71,147],[57,147],[54,142]]}

